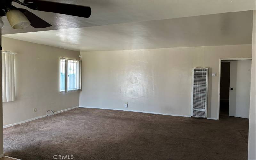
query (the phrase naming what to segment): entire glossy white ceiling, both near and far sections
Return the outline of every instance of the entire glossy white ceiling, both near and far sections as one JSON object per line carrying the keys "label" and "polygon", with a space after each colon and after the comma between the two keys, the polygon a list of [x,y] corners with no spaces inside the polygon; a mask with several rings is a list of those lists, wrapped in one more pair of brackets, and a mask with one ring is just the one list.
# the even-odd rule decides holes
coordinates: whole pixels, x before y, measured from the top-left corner
{"label": "entire glossy white ceiling, both near and far sections", "polygon": [[252,43],[255,0],[52,1],[90,6],[92,15],[30,10],[52,27],[14,30],[4,17],[3,36],[77,51]]}

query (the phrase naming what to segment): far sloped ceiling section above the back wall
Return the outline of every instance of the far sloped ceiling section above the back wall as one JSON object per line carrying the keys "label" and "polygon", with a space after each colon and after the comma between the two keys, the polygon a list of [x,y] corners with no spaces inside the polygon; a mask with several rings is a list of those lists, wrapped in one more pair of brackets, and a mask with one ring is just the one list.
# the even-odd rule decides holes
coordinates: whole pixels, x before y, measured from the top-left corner
{"label": "far sloped ceiling section above the back wall", "polygon": [[252,11],[4,36],[77,51],[252,44]]}

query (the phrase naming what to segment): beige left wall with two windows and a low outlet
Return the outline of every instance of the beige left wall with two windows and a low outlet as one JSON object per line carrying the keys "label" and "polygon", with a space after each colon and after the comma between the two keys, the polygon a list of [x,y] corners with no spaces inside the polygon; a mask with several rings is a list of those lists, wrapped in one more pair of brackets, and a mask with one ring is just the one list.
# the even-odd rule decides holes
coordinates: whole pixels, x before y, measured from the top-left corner
{"label": "beige left wall with two windows and a low outlet", "polygon": [[[3,125],[78,106],[79,92],[60,94],[59,58],[79,52],[3,37],[3,50],[16,55],[16,100],[3,103]],[[37,112],[33,112],[37,108]]]}

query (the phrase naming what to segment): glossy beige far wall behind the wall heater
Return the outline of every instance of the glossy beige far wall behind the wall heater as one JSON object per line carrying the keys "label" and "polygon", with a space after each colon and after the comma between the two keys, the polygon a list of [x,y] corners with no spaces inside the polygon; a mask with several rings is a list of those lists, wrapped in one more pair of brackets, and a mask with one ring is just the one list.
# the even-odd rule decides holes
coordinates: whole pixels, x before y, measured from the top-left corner
{"label": "glossy beige far wall behind the wall heater", "polygon": [[[208,117],[217,118],[220,58],[251,57],[252,45],[81,52],[79,106],[190,115],[193,67],[209,67]],[[212,77],[212,72],[217,76]],[[129,107],[124,104],[128,102]]]}

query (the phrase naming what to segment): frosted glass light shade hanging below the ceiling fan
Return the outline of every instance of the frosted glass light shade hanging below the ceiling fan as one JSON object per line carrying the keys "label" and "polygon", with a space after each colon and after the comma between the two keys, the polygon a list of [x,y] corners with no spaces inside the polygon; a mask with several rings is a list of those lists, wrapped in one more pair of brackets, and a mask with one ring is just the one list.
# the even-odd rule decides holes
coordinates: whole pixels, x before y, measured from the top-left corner
{"label": "frosted glass light shade hanging below the ceiling fan", "polygon": [[6,13],[6,16],[13,29],[22,29],[30,25],[27,17],[19,10],[12,9]]}

